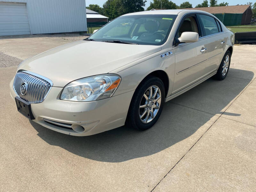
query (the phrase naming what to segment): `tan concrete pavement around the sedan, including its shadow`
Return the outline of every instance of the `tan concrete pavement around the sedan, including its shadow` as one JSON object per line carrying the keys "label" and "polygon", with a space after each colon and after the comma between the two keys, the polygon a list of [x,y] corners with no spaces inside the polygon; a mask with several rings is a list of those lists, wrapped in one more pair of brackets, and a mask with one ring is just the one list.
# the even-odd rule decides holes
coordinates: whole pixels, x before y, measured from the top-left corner
{"label": "tan concrete pavement around the sedan, including its shadow", "polygon": [[224,81],[167,102],[151,129],[74,137],[17,112],[9,82],[21,60],[79,38],[0,39],[0,191],[255,191],[255,45],[235,46]]}

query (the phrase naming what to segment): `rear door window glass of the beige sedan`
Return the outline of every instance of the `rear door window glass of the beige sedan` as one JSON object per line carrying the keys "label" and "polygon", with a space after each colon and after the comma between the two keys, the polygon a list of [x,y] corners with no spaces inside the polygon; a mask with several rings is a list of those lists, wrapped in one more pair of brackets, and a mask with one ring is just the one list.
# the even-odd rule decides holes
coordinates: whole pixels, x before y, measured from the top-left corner
{"label": "rear door window glass of the beige sedan", "polygon": [[218,28],[217,23],[213,17],[210,17],[208,15],[199,15],[199,17],[203,23],[205,36],[219,33],[219,28]]}

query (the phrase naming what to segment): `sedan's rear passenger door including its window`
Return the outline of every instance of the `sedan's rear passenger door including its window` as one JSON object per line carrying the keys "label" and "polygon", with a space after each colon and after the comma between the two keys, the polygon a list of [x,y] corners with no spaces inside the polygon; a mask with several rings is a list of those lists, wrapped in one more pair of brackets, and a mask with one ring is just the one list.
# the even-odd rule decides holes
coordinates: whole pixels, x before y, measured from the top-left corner
{"label": "sedan's rear passenger door including its window", "polygon": [[198,18],[201,20],[204,32],[201,38],[208,42],[205,75],[209,75],[220,66],[227,39],[218,20],[206,14],[198,14]]}

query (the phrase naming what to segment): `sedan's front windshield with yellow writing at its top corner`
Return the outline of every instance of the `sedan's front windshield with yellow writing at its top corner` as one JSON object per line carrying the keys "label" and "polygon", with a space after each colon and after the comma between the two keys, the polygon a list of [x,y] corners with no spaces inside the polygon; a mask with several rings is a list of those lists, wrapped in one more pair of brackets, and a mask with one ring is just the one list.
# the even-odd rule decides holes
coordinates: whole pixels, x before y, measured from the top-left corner
{"label": "sedan's front windshield with yellow writing at its top corner", "polygon": [[128,15],[109,22],[87,40],[111,43],[164,44],[177,15]]}

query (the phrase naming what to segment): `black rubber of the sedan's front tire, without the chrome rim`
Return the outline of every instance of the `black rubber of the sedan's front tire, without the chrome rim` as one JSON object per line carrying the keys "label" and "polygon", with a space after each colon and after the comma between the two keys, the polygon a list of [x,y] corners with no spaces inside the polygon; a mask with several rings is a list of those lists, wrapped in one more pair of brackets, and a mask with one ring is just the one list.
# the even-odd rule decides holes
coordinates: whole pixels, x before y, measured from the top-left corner
{"label": "black rubber of the sedan's front tire, without the chrome rim", "polygon": [[[140,117],[139,117],[140,101],[143,94],[146,92],[146,90],[153,85],[156,85],[157,87],[159,87],[161,91],[161,104],[155,118],[151,122],[145,124],[140,120]],[[128,121],[133,128],[138,130],[147,130],[148,128],[152,127],[162,113],[164,98],[165,98],[165,90],[164,90],[164,84],[161,81],[161,79],[159,79],[158,77],[149,77],[145,79],[140,83],[140,85],[137,87],[137,89],[133,94],[126,121]]]}

